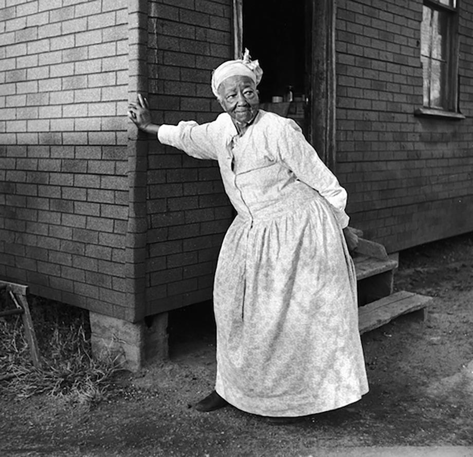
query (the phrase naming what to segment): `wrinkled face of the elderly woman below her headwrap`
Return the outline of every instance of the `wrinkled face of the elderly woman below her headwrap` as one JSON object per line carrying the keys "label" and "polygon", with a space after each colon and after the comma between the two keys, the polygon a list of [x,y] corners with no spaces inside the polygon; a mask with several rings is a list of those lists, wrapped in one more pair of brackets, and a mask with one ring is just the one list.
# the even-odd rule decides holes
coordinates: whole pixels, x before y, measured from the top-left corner
{"label": "wrinkled face of the elderly woman below her headwrap", "polygon": [[238,122],[248,124],[256,113],[260,99],[256,84],[248,76],[230,76],[219,86],[222,108]]}

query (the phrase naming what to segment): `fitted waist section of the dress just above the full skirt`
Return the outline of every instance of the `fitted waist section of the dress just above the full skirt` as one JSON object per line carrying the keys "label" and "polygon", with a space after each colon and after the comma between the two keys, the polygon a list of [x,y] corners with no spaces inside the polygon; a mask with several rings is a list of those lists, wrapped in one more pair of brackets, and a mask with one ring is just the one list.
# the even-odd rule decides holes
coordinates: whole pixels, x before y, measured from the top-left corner
{"label": "fitted waist section of the dress just above the full skirt", "polygon": [[237,218],[242,222],[273,220],[306,208],[311,201],[325,201],[317,190],[306,184],[291,187],[289,192],[282,192],[273,199],[261,200],[257,204],[250,205],[249,213],[239,213]]}

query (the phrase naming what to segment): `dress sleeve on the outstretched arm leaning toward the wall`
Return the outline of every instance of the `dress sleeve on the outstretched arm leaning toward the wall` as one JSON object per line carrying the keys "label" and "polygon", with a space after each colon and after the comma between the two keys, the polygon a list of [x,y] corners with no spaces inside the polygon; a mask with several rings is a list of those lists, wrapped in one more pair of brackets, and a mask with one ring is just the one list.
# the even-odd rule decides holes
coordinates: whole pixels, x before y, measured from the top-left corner
{"label": "dress sleeve on the outstretched arm leaning toward the wall", "polygon": [[158,130],[160,143],[173,146],[196,159],[217,160],[213,140],[212,122],[180,121],[177,126],[161,125]]}

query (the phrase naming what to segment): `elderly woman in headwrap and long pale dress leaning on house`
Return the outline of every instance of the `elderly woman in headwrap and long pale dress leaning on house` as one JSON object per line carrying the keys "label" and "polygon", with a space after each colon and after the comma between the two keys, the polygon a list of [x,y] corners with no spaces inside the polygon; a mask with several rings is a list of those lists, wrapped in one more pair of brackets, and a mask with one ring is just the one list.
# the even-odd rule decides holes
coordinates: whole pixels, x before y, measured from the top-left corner
{"label": "elderly woman in headwrap and long pale dress leaning on house", "polygon": [[270,417],[328,411],[368,391],[347,243],[347,193],[300,128],[259,109],[262,70],[248,52],[223,63],[212,91],[225,113],[208,124],[152,123],[138,95],[129,117],[163,144],[219,162],[238,212],[215,272],[215,390],[199,411],[230,403]]}

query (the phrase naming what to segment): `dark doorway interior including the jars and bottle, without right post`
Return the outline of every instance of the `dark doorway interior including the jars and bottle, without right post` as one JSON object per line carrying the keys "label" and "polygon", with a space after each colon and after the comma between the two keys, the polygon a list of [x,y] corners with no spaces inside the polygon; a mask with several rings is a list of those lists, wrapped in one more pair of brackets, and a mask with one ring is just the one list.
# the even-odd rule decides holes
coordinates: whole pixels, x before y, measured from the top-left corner
{"label": "dark doorway interior including the jars and bottle, without right post", "polygon": [[248,48],[263,69],[261,109],[293,118],[307,133],[312,0],[290,7],[273,0],[234,0],[234,8],[235,49]]}

